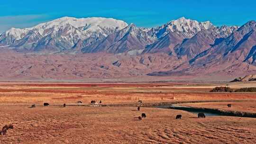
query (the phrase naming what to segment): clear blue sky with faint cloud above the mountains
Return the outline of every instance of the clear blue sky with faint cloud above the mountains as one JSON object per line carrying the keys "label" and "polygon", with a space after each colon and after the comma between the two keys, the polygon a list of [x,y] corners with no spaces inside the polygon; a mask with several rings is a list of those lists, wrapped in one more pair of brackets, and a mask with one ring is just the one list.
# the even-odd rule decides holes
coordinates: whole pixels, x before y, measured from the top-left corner
{"label": "clear blue sky with faint cloud above the mountains", "polygon": [[256,0],[1,0],[0,32],[64,16],[107,17],[155,27],[180,17],[214,25],[256,20]]}

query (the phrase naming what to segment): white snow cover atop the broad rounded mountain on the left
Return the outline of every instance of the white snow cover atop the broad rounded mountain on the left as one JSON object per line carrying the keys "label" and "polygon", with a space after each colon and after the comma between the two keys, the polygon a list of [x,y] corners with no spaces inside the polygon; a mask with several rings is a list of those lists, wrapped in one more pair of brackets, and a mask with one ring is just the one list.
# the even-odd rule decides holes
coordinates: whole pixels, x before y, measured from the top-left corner
{"label": "white snow cover atop the broad rounded mountain on the left", "polygon": [[[76,28],[82,30],[83,35],[90,36],[90,33],[99,32],[105,35],[104,30],[106,29],[117,29],[120,30],[127,27],[128,24],[121,20],[116,20],[113,18],[72,18],[63,17],[57,18],[55,20],[38,24],[35,27],[30,28],[11,28],[5,32],[5,36],[11,36],[18,40],[23,38],[30,30],[38,30],[39,34],[46,36],[51,33],[58,33],[60,29],[65,27],[73,27],[73,31]],[[72,33],[72,30],[71,30]]]}

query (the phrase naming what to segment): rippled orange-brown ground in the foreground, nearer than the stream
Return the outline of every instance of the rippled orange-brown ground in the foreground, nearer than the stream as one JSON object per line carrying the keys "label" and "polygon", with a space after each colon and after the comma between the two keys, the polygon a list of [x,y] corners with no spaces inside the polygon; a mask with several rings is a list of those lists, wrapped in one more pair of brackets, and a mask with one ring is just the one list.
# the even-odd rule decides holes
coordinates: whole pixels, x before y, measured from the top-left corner
{"label": "rippled orange-brown ground in the foreground, nearer than the stream", "polygon": [[[256,119],[126,107],[0,106],[1,144],[253,144]],[[141,113],[147,117],[138,120]],[[174,119],[182,114],[181,120]]]}

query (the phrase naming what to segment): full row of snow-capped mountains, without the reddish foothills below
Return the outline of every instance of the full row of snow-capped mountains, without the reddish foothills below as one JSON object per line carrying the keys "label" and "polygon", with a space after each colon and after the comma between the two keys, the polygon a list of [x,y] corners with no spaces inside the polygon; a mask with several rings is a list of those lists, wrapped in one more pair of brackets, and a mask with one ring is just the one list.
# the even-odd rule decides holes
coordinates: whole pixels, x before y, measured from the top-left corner
{"label": "full row of snow-capped mountains, without the reddish foothills below", "polygon": [[198,22],[184,17],[154,28],[136,27],[113,18],[64,17],[35,27],[11,28],[0,35],[0,46],[32,52],[162,52],[174,56],[190,53],[187,55],[192,58],[237,28],[215,27],[209,21]]}

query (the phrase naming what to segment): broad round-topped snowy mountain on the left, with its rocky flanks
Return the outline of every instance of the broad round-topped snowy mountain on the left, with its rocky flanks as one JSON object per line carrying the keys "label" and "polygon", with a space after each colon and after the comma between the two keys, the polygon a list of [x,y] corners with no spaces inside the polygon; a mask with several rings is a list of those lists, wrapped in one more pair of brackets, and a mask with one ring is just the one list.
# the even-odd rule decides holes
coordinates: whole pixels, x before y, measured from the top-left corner
{"label": "broad round-topped snowy mountain on the left, with its rocky flanks", "polygon": [[11,28],[0,36],[0,45],[24,50],[66,50],[80,40],[83,46],[100,40],[128,24],[113,18],[58,18],[35,27]]}

